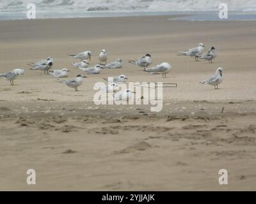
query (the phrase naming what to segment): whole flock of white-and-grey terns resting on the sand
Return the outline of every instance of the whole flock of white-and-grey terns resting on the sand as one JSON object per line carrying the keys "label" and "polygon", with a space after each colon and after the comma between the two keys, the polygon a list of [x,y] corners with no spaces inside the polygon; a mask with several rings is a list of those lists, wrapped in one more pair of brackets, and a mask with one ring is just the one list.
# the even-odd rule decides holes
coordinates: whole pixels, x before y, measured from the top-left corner
{"label": "whole flock of white-and-grey terns resting on the sand", "polygon": [[[215,48],[211,47],[209,52],[207,54],[203,54],[205,49],[205,45],[203,43],[200,43],[198,47],[190,48],[187,52],[180,51],[178,55],[182,56],[189,56],[189,57],[195,57],[195,61],[199,61],[199,59],[204,59],[206,61],[209,61],[212,63],[212,60],[216,58],[216,52]],[[78,54],[68,54],[70,57],[73,57],[74,59],[79,60],[79,62],[72,62],[72,65],[81,70],[84,71],[87,74],[95,75],[99,74],[102,69],[120,69],[123,66],[123,60],[117,59],[116,61],[107,63],[108,61],[108,55],[106,50],[101,50],[99,54],[99,64],[96,64],[95,66],[90,67],[90,59],[92,58],[92,52],[91,51],[85,51],[80,52]],[[166,74],[169,73],[172,70],[171,64],[168,62],[162,62],[161,64],[157,64],[156,66],[149,67],[153,60],[152,56],[150,54],[146,54],[143,57],[138,58],[137,61],[130,60],[128,61],[131,64],[134,64],[136,66],[139,66],[143,68],[143,71],[147,71],[151,74],[161,74],[163,78],[166,77]],[[53,57],[47,57],[46,59],[42,59],[39,62],[33,62],[29,63],[28,65],[31,67],[31,70],[40,70],[44,71],[45,74],[52,75],[52,77],[58,78],[58,80],[67,85],[68,87],[74,88],[76,91],[78,90],[77,87],[79,87],[83,83],[83,78],[85,78],[83,75],[77,75],[76,78],[72,78],[70,80],[61,80],[61,78],[68,77],[68,69],[54,69],[53,71],[50,71],[54,64]],[[13,80],[17,78],[19,75],[24,75],[24,69],[17,68],[13,69],[12,71],[4,74],[0,74],[0,77],[6,78],[6,80],[9,80],[11,85],[13,84]],[[101,87],[100,89],[106,91],[106,92],[113,92],[115,90],[115,87],[118,87],[118,84],[125,83],[128,79],[125,75],[120,75],[116,77],[109,77],[109,78],[103,78],[107,82],[111,83],[107,85],[106,87]],[[218,68],[216,70],[215,75],[212,75],[211,77],[207,78],[201,84],[209,84],[214,85],[215,89],[218,89],[218,85],[223,81],[223,68]],[[125,92],[121,92],[116,94],[114,97],[117,99],[122,98],[122,95],[129,96],[132,94],[132,91],[130,89],[127,89]]]}

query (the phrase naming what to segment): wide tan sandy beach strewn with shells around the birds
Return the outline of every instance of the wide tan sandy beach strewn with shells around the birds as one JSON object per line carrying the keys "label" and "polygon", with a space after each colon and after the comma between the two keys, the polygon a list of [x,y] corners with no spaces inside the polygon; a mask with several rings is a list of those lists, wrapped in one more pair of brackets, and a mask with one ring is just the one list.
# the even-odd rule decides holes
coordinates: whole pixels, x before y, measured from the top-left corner
{"label": "wide tan sandy beach strewn with shells around the birds", "polygon": [[[172,16],[0,21],[0,73],[24,68],[15,85],[0,78],[0,190],[222,191],[256,186],[256,22],[173,20]],[[204,43],[214,63],[177,56]],[[86,75],[79,91],[29,62],[54,57],[52,69],[82,73],[67,54],[100,50],[121,69]],[[206,52],[205,50],[205,52]],[[167,78],[129,64],[150,53],[170,62]],[[200,82],[222,67],[215,90]],[[163,89],[163,110],[95,105],[93,85],[125,74],[128,82],[177,83]],[[36,185],[26,171],[36,170]],[[228,185],[218,171],[228,170]]]}

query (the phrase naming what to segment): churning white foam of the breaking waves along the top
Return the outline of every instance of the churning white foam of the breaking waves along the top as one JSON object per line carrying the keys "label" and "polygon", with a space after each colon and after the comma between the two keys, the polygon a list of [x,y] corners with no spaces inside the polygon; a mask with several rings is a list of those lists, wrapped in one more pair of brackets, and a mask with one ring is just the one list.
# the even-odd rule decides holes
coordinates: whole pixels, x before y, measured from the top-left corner
{"label": "churning white foam of the breaking waves along the top", "polygon": [[256,11],[256,0],[0,0],[0,11],[17,12],[35,3],[41,11],[213,11],[220,3],[229,10]]}

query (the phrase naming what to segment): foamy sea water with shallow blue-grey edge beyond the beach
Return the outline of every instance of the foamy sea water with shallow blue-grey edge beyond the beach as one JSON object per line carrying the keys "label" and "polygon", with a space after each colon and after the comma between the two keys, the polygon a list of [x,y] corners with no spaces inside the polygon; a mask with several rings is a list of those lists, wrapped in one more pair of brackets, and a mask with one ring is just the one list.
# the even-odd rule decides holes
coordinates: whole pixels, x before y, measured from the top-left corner
{"label": "foamy sea water with shallow blue-grey edge beyond the beach", "polygon": [[256,20],[256,0],[0,0],[0,20],[26,19],[29,3],[36,18],[188,15],[175,20],[220,20],[226,3],[227,20]]}

